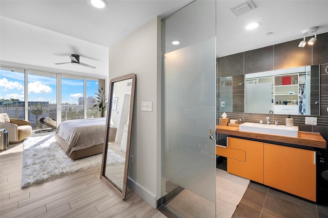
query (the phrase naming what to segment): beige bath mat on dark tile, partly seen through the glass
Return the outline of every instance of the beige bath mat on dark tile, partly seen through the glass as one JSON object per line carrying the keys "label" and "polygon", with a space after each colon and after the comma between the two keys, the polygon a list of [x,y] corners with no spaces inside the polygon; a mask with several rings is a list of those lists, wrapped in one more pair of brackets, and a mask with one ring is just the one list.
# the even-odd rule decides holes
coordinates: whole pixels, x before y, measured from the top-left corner
{"label": "beige bath mat on dark tile, partly seen through the glass", "polygon": [[[216,217],[230,218],[242,199],[250,180],[216,169]],[[215,205],[185,189],[168,204],[181,217],[214,217]]]}

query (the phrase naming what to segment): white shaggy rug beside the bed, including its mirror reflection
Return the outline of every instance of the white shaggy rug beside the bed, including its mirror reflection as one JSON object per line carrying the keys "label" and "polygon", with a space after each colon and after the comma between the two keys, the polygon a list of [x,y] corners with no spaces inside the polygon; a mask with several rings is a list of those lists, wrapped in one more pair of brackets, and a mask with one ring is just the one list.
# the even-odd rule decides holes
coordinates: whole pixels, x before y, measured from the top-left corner
{"label": "white shaggy rug beside the bed, including its mirror reflection", "polygon": [[[72,172],[101,165],[103,154],[71,160],[55,141],[54,135],[29,137],[23,143],[22,188],[63,177]],[[125,159],[108,150],[107,164],[122,164]]]}

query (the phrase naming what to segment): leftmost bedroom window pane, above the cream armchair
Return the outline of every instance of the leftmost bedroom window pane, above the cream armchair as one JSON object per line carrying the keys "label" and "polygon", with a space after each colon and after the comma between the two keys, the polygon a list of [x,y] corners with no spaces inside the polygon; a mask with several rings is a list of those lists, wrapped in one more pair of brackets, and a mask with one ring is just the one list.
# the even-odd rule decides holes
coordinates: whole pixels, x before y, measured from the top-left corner
{"label": "leftmost bedroom window pane, above the cream armchair", "polygon": [[10,118],[25,120],[24,69],[0,69],[0,110]]}

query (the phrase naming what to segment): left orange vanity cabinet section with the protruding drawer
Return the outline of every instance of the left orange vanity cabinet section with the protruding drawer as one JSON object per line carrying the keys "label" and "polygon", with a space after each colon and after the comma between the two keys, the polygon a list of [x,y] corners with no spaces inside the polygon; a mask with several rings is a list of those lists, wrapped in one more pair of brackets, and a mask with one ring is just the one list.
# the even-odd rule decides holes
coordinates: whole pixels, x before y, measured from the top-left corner
{"label": "left orange vanity cabinet section with the protruding drawer", "polygon": [[263,142],[231,137],[227,140],[227,147],[216,147],[217,155],[227,157],[227,171],[263,183]]}

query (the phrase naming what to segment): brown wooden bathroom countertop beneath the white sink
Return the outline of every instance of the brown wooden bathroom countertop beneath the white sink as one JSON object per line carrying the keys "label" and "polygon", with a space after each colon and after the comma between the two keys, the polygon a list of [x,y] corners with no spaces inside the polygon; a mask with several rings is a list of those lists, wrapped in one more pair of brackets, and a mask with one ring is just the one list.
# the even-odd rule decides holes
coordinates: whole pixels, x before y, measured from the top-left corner
{"label": "brown wooden bathroom countertop beneath the white sink", "polygon": [[326,148],[326,141],[319,133],[298,131],[298,137],[277,136],[271,134],[250,133],[239,130],[237,126],[217,125],[216,132],[230,136],[239,136],[251,139],[273,141],[287,144],[303,145],[308,147]]}

